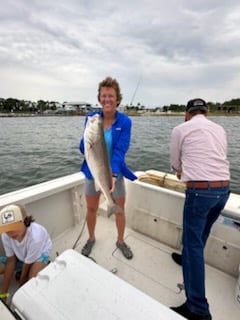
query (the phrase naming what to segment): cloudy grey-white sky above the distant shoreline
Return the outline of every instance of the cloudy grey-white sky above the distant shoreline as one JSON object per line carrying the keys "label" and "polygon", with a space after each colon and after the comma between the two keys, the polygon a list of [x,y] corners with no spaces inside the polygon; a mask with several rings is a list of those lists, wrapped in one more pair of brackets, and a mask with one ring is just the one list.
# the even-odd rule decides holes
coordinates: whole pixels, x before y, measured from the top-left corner
{"label": "cloudy grey-white sky above the distant shoreline", "polygon": [[0,97],[123,103],[240,97],[239,0],[0,0]]}

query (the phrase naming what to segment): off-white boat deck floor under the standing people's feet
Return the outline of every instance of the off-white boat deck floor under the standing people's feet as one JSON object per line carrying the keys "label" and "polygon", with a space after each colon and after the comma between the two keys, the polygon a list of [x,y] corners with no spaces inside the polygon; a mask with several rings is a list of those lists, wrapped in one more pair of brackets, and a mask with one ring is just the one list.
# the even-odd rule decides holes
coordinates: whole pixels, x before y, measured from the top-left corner
{"label": "off-white boat deck floor under the standing people's feet", "polygon": [[[66,231],[55,239],[53,253],[61,254],[73,247],[81,231],[81,226]],[[88,238],[87,228],[77,243],[81,252]],[[133,250],[134,258],[125,259],[116,249],[116,227],[114,219],[98,216],[96,243],[91,258],[117,277],[126,280],[165,306],[177,306],[185,301],[181,267],[171,259],[172,249],[133,230],[126,229],[125,240]],[[56,257],[53,254],[53,259]],[[240,308],[235,301],[237,279],[206,266],[206,291],[213,320],[238,320]]]}

